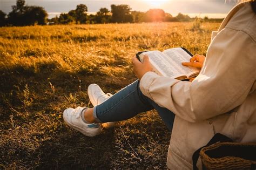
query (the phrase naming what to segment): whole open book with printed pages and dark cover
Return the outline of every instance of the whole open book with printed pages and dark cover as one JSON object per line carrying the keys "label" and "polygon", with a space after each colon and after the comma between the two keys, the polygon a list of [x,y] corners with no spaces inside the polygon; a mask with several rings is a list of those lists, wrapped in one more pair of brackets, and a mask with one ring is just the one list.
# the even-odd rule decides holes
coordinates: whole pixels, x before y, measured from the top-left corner
{"label": "whole open book with printed pages and dark cover", "polygon": [[163,52],[144,51],[137,53],[136,56],[140,62],[143,62],[144,55],[149,56],[153,67],[152,71],[160,76],[185,80],[196,77],[200,72],[199,69],[186,67],[181,64],[182,62],[190,62],[190,58],[193,56],[183,47],[167,49]]}

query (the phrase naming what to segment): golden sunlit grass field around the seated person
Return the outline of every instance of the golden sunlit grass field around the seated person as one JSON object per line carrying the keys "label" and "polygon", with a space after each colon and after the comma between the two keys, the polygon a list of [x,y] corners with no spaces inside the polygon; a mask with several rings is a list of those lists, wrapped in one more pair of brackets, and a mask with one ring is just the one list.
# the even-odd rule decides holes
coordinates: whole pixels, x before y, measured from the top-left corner
{"label": "golden sunlit grass field around the seated person", "polygon": [[67,107],[92,106],[87,86],[117,92],[136,80],[143,50],[186,47],[205,55],[220,23],[0,28],[0,169],[166,168],[171,133],[156,111],[89,138],[69,128]]}

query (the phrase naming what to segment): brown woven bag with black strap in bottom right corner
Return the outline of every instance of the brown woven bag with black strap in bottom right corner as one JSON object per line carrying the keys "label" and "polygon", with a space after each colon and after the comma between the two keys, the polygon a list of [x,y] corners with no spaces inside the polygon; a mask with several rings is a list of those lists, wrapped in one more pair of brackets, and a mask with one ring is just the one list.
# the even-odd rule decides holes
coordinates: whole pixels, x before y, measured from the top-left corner
{"label": "brown woven bag with black strap in bottom right corner", "polygon": [[220,133],[194,152],[193,169],[198,169],[199,155],[203,169],[256,169],[256,143],[235,143]]}

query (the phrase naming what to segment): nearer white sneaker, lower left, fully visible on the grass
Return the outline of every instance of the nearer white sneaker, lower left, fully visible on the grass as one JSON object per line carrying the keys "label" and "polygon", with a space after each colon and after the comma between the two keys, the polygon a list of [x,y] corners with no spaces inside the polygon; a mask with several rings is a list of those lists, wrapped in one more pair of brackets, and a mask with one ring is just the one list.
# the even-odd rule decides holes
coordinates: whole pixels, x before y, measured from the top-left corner
{"label": "nearer white sneaker, lower left, fully visible on the grass", "polygon": [[88,137],[94,137],[99,134],[102,130],[98,123],[86,124],[81,117],[81,112],[85,107],[67,108],[63,112],[64,121],[75,130],[83,133]]}

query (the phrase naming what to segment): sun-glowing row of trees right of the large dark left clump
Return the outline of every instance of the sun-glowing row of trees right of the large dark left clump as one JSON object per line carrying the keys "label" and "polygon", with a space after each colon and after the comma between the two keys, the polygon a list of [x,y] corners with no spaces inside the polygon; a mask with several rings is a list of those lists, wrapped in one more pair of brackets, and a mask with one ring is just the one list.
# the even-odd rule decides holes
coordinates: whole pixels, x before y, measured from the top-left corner
{"label": "sun-glowing row of trees right of the large dark left clump", "polygon": [[[80,10],[78,10],[80,9]],[[82,10],[81,10],[82,9]],[[81,17],[77,17],[81,16]],[[141,22],[170,22],[191,21],[188,15],[179,13],[173,17],[162,9],[150,9],[146,12],[132,11],[129,5],[111,5],[111,10],[100,8],[96,14],[87,15],[87,6],[77,5],[75,10],[60,13],[59,17],[49,19],[49,24],[103,24],[103,23],[141,23]]]}

